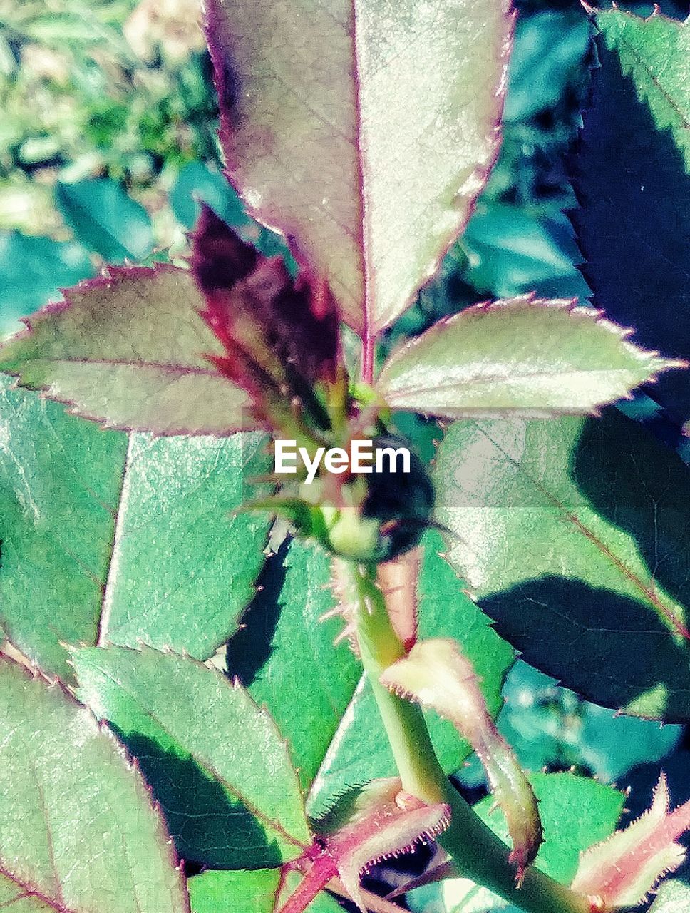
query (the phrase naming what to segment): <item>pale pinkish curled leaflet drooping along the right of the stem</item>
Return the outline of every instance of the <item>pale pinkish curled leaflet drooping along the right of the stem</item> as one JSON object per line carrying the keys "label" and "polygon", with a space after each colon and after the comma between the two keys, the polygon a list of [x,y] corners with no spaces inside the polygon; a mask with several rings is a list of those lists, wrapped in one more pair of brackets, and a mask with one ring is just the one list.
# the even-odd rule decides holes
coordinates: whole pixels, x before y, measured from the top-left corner
{"label": "pale pinkish curled leaflet drooping along the right of the stem", "polygon": [[506,815],[513,841],[511,862],[517,880],[541,844],[537,800],[506,740],[486,709],[472,663],[453,640],[415,644],[408,656],[386,669],[382,684],[449,719],[476,750],[497,804]]}

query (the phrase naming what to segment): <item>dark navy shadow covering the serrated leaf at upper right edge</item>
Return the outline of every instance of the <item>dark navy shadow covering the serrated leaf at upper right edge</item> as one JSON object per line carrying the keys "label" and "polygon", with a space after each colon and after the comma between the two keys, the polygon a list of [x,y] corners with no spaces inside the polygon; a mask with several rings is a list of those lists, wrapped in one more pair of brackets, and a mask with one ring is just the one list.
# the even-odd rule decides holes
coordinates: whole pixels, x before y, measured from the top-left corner
{"label": "dark navy shadow covering the serrated leaf at upper right edge", "polygon": [[[671,131],[657,129],[618,55],[598,44],[591,110],[572,157],[572,215],[593,303],[635,329],[635,341],[690,355],[690,176]],[[690,373],[648,393],[678,422],[690,415]]]}

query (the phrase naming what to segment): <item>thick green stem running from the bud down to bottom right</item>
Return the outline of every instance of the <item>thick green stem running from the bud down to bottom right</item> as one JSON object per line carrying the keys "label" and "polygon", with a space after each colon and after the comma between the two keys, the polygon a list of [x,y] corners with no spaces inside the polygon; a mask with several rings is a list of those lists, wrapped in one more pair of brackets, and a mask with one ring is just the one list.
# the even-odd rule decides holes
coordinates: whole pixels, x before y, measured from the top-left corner
{"label": "thick green stem running from the bud down to bottom right", "polygon": [[[343,562],[344,563],[344,562]],[[527,913],[590,913],[589,902],[530,866],[521,887],[508,847],[498,839],[445,776],[434,752],[420,708],[393,695],[379,682],[384,669],[405,655],[393,630],[375,565],[347,564],[350,593],[357,599],[357,636],[361,661],[381,712],[403,789],[426,803],[451,807],[451,824],[439,843],[464,876],[490,888]]]}

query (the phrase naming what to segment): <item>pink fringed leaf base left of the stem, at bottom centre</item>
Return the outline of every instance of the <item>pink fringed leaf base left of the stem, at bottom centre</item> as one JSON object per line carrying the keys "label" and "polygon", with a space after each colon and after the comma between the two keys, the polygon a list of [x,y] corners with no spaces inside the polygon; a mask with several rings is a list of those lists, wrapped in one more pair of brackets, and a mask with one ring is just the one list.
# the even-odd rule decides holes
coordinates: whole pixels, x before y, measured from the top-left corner
{"label": "pink fringed leaf base left of the stem, at bottom centre", "polygon": [[331,878],[340,877],[350,898],[366,913],[361,873],[443,833],[449,816],[447,805],[426,805],[403,792],[398,779],[373,781],[353,791],[317,822],[321,833],[307,852],[285,867],[286,874],[297,868],[304,877],[282,906],[278,891],[277,909],[302,913]]}

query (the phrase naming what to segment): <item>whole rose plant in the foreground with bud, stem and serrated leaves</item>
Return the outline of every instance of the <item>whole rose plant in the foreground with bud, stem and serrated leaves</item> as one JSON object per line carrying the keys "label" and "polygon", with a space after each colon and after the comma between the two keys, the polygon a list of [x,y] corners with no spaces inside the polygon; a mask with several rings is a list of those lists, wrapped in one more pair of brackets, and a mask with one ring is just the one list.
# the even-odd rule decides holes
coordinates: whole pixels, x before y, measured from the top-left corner
{"label": "whole rose plant in the foreground with bud, stem and serrated leaves", "polygon": [[[663,290],[641,264],[673,283],[684,252],[661,234],[622,260],[635,173],[597,162],[636,105],[631,154],[685,167],[688,32],[587,14],[574,222],[598,307],[486,302],[390,352],[495,161],[514,17],[208,0],[227,177],[291,257],[204,206],[187,263],[109,268],[0,349],[28,388],[0,400],[0,906],[393,913],[362,872],[437,840],[426,881],[605,913],[682,862],[690,806],[664,778],[616,831],[620,792],[528,776],[495,723],[515,649],[604,706],[689,715],[688,471],[610,405],[644,384],[685,419],[683,380],[649,386],[684,352],[599,310]],[[408,439],[404,414],[434,421]],[[413,456],[286,483],[277,439]],[[495,815],[448,779],[473,751]]]}

